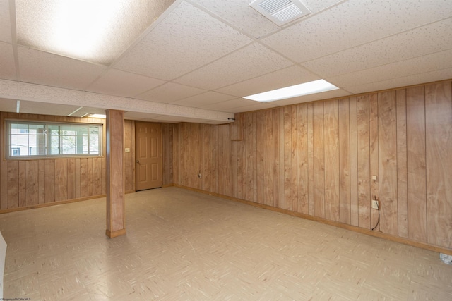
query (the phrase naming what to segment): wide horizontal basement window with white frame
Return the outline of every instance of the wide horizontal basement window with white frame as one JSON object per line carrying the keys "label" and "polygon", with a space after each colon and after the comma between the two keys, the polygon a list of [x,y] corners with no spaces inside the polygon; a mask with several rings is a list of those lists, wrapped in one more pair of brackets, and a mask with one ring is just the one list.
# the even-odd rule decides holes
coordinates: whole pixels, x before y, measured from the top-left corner
{"label": "wide horizontal basement window with white frame", "polygon": [[6,159],[101,156],[102,125],[6,121]]}

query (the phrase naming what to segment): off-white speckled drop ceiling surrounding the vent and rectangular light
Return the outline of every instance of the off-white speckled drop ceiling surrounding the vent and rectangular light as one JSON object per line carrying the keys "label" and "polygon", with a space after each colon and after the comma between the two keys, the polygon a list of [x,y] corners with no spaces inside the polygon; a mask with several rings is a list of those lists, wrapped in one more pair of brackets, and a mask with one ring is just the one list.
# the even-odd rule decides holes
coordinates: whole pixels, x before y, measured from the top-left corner
{"label": "off-white speckled drop ceiling surrounding the vent and rectangular light", "polygon": [[[44,2],[52,9],[54,1]],[[141,121],[218,124],[237,112],[452,78],[450,0],[302,0],[311,13],[282,27],[249,0],[149,2],[136,1],[152,10],[148,23],[119,23],[138,30],[110,35],[120,51],[102,49],[107,59],[96,61],[18,39],[45,12],[24,13],[33,1],[0,0],[0,111],[121,109]],[[270,103],[242,99],[319,79],[339,89]]]}

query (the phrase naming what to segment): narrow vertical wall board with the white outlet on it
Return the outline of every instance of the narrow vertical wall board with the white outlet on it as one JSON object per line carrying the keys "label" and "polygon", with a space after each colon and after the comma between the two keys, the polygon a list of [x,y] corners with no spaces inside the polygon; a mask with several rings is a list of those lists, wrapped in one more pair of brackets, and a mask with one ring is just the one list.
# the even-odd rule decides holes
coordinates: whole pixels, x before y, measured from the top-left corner
{"label": "narrow vertical wall board with the white outlet on it", "polygon": [[[395,108],[394,108],[395,109]],[[379,175],[379,94],[369,95],[369,140],[370,140],[370,197],[371,199],[379,199],[380,189],[380,175]],[[377,180],[373,180],[376,176]],[[369,199],[369,206],[371,207],[371,199]],[[382,219],[382,209],[380,204],[380,218]],[[377,209],[370,210],[370,226],[381,229],[381,221],[379,222],[379,211]]]}

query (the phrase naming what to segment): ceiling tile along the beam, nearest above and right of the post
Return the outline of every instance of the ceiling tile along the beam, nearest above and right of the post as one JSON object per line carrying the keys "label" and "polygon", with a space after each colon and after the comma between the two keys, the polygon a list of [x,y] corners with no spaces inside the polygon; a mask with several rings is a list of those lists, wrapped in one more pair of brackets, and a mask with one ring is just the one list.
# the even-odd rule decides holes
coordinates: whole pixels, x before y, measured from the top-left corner
{"label": "ceiling tile along the beam, nearest above and right of the post", "polygon": [[115,96],[133,97],[164,83],[163,80],[109,69],[86,90]]}

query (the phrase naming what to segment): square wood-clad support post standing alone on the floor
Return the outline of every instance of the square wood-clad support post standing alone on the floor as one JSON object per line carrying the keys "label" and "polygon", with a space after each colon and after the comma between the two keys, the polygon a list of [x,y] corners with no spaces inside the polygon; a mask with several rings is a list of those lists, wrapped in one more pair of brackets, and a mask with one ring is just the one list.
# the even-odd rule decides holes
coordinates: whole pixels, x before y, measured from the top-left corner
{"label": "square wood-clad support post standing alone on the floor", "polygon": [[107,110],[107,231],[109,238],[126,234],[124,176],[124,111]]}

